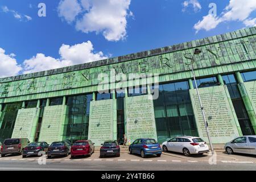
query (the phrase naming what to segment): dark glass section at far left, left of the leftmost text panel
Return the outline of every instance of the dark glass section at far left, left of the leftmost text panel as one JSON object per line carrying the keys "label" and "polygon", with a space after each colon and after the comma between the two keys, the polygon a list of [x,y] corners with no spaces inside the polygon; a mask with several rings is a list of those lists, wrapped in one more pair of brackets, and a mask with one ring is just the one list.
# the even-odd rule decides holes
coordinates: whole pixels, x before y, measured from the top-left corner
{"label": "dark glass section at far left, left of the leftmost text panel", "polygon": [[0,119],[0,141],[11,138],[18,114],[18,110],[22,108],[22,102],[6,104],[3,107]]}

